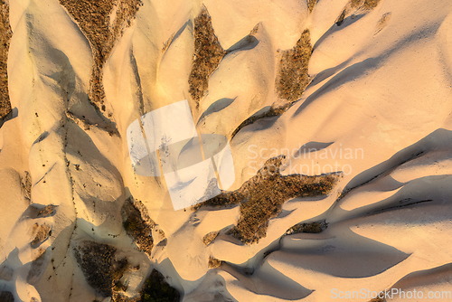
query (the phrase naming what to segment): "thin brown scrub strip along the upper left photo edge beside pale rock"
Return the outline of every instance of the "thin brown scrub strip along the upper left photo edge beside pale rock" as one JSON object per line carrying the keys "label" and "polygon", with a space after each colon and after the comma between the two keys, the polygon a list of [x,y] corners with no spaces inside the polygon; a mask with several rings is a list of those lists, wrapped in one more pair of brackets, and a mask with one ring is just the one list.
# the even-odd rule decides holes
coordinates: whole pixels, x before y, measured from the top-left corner
{"label": "thin brown scrub strip along the upper left photo edge beside pale rock", "polygon": [[11,111],[8,91],[8,50],[12,32],[9,26],[9,6],[0,0],[0,118],[5,118]]}

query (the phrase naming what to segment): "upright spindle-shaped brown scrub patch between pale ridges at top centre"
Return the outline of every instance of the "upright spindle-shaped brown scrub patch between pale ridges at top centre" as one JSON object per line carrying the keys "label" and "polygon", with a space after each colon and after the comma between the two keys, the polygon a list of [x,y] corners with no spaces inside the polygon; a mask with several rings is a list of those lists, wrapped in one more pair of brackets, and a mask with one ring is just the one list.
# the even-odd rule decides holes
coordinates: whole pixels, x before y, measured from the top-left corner
{"label": "upright spindle-shaped brown scrub patch between pale ridges at top centre", "polygon": [[193,66],[188,78],[189,92],[196,101],[196,107],[199,107],[200,99],[208,89],[209,77],[225,54],[213,33],[211,16],[203,7],[201,13],[194,18]]}

